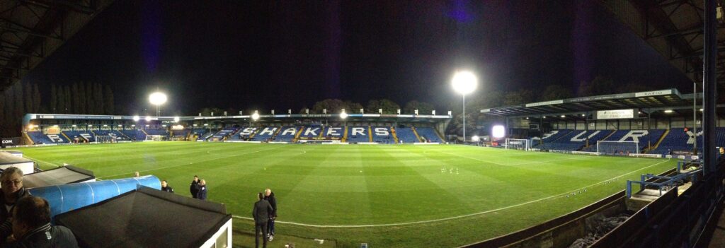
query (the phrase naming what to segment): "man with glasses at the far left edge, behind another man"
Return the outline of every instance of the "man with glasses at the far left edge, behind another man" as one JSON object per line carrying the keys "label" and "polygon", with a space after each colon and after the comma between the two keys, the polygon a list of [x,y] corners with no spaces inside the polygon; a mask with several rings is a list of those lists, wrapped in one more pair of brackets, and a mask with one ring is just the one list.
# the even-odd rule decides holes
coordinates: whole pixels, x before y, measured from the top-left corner
{"label": "man with glasses at the far left edge, behind another man", "polygon": [[2,189],[0,192],[0,206],[4,207],[0,209],[0,241],[4,241],[7,236],[12,234],[12,210],[15,208],[15,203],[20,200],[21,197],[28,195],[25,191],[25,187],[22,187],[22,171],[17,167],[6,168],[2,174],[0,174],[0,186]]}

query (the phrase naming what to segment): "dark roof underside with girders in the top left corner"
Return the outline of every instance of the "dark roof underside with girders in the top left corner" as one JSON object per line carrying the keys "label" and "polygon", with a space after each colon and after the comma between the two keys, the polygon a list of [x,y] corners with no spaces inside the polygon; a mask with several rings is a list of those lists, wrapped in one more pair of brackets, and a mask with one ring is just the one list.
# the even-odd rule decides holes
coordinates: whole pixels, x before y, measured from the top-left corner
{"label": "dark roof underside with girders in the top left corner", "polygon": [[0,4],[0,91],[78,33],[113,0],[10,0]]}

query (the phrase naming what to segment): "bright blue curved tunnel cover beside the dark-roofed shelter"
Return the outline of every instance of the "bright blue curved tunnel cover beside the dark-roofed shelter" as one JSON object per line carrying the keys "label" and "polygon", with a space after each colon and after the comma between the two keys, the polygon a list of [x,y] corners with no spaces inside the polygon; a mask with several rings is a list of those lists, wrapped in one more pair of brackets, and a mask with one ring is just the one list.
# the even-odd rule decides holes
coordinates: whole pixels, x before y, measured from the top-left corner
{"label": "bright blue curved tunnel cover beside the dark-roofed shelter", "polygon": [[28,189],[30,194],[43,197],[50,203],[51,217],[70,210],[108,200],[119,194],[136,189],[137,185],[161,189],[161,181],[156,176],[139,176],[128,179],[90,181],[78,184],[63,184]]}

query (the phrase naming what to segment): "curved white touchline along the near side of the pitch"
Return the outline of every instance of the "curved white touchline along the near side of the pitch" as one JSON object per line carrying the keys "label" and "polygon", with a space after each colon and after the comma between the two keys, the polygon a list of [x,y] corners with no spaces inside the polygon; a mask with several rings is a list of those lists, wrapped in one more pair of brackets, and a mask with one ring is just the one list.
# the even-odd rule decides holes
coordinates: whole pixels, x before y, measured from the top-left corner
{"label": "curved white touchline along the near side of the pitch", "polygon": [[[665,163],[667,161],[668,160],[661,161],[660,163]],[[563,197],[566,194],[569,194],[570,192],[576,192],[576,191],[579,191],[581,189],[587,189],[589,187],[595,187],[595,186],[597,186],[599,184],[604,184],[607,181],[612,181],[613,179],[618,179],[618,178],[620,178],[622,176],[626,176],[626,175],[632,174],[632,173],[637,172],[637,171],[642,171],[642,170],[644,170],[646,168],[651,168],[653,166],[657,166],[660,163],[655,163],[655,164],[650,165],[650,166],[647,166],[647,167],[639,168],[636,171],[630,171],[630,172],[628,172],[626,174],[621,174],[620,176],[615,176],[615,177],[613,177],[611,179],[607,179],[605,181],[600,181],[600,182],[598,182],[596,184],[591,184],[591,185],[589,185],[587,187],[581,187],[579,189],[570,190],[570,191],[564,192],[562,194],[555,194],[555,195],[552,195],[550,197],[544,197],[544,198],[541,198],[541,199],[538,199],[538,200],[531,200],[529,202],[523,202],[523,203],[519,203],[519,204],[516,204],[516,205],[510,205],[510,206],[503,207],[503,208],[497,208],[497,209],[494,209],[494,210],[486,210],[486,211],[479,212],[479,213],[470,213],[470,214],[467,214],[467,215],[459,215],[459,216],[453,216],[453,217],[448,217],[448,218],[439,218],[439,219],[428,220],[428,221],[413,221],[413,222],[403,222],[403,223],[370,224],[370,225],[313,225],[313,224],[287,222],[287,221],[275,221],[275,223],[289,224],[289,225],[294,225],[294,226],[317,227],[317,228],[363,228],[363,227],[384,227],[384,226],[407,226],[407,225],[422,224],[422,223],[431,223],[431,222],[439,222],[439,221],[450,221],[450,220],[455,220],[455,219],[458,219],[458,218],[466,218],[466,217],[471,217],[471,216],[476,216],[476,215],[483,215],[483,214],[486,214],[486,213],[493,213],[493,212],[500,211],[500,210],[507,210],[509,208],[521,207],[523,205],[529,205],[529,204],[534,203],[534,202],[541,202],[543,200],[549,200],[549,199],[552,199],[552,198],[555,198],[555,197]],[[252,221],[254,220],[253,218],[242,217],[242,216],[238,216],[238,215],[232,215],[232,217],[233,218],[244,219],[244,220],[252,220]]]}

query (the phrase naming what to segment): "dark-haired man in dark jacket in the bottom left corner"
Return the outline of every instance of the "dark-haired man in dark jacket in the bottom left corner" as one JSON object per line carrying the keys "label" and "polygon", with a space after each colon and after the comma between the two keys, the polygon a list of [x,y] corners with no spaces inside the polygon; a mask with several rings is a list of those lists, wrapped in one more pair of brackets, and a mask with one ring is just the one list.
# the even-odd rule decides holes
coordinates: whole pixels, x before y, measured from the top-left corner
{"label": "dark-haired man in dark jacket in the bottom left corner", "polygon": [[48,201],[41,197],[26,196],[20,198],[16,205],[12,215],[13,236],[2,247],[78,247],[70,229],[50,225]]}

